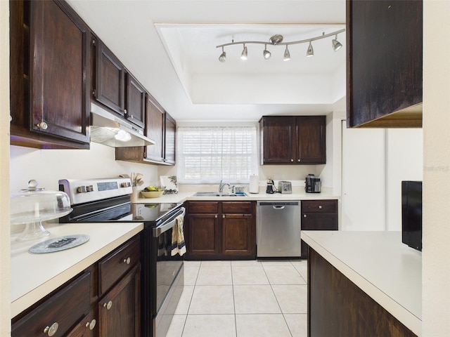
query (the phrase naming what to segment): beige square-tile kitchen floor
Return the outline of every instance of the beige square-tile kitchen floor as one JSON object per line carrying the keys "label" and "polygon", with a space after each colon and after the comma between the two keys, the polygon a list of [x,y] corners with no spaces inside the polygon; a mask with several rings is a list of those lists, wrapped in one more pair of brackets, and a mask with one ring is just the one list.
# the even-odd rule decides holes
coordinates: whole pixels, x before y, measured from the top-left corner
{"label": "beige square-tile kitchen floor", "polygon": [[167,337],[307,336],[307,261],[186,261]]}

